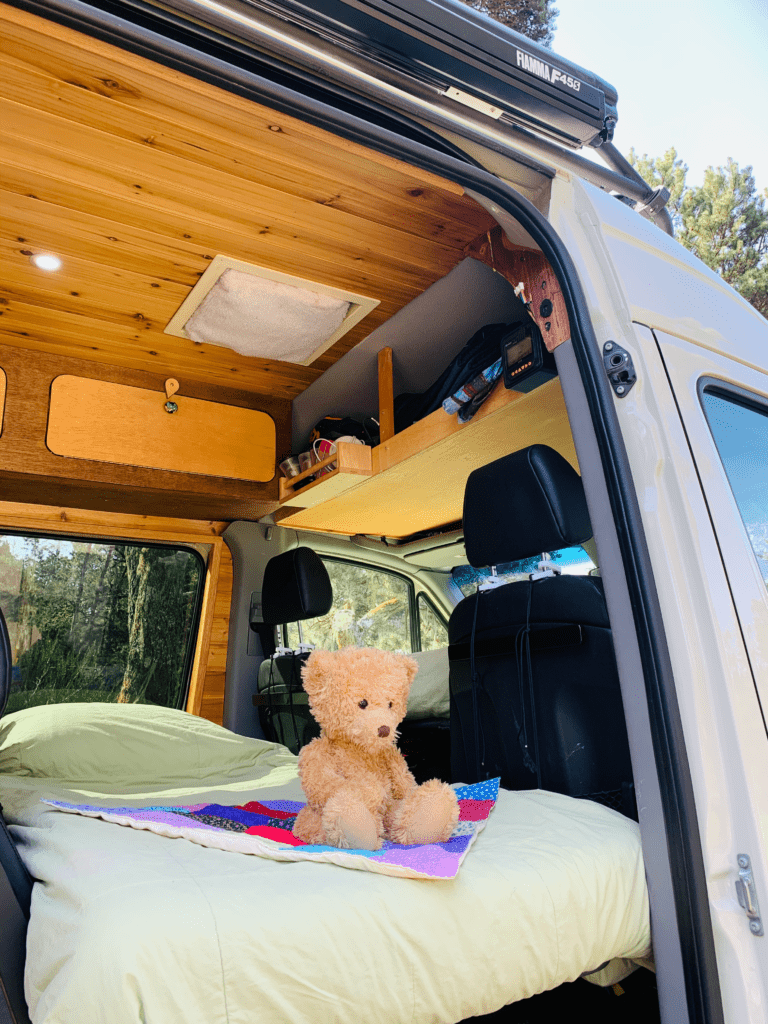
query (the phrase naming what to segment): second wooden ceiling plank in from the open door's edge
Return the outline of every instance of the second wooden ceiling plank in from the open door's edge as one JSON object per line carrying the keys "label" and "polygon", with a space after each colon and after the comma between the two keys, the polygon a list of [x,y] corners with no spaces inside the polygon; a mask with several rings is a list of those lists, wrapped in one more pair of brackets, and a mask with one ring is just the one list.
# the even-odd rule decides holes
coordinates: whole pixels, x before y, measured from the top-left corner
{"label": "second wooden ceiling plank in from the open door's edge", "polygon": [[102,128],[109,117],[111,133],[127,141],[191,160],[208,170],[276,186],[337,210],[365,216],[375,203],[377,217],[390,226],[402,226],[407,216],[409,230],[451,245],[466,245],[483,226],[479,208],[469,206],[466,200],[414,185],[391,172],[384,174],[377,165],[372,173],[371,166],[361,160],[352,171],[349,159],[340,162],[336,153],[316,146],[307,150],[300,139],[294,139],[290,148],[281,147],[275,133],[268,130],[262,130],[249,145],[242,126],[228,132],[220,127],[202,130],[189,115],[187,123],[177,124],[18,65],[0,65],[0,89],[9,99],[90,128]]}

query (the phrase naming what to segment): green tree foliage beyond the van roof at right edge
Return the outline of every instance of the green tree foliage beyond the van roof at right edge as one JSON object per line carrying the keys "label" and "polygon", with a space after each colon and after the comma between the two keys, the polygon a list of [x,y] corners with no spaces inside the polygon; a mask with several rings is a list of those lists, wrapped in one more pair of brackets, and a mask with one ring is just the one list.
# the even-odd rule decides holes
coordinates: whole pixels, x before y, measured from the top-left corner
{"label": "green tree foliage beyond the van roof at right edge", "polygon": [[648,184],[672,193],[678,241],[768,317],[768,189],[757,191],[752,168],[729,158],[725,167],[708,167],[701,185],[690,186],[674,148],[657,159],[632,150],[628,159]]}

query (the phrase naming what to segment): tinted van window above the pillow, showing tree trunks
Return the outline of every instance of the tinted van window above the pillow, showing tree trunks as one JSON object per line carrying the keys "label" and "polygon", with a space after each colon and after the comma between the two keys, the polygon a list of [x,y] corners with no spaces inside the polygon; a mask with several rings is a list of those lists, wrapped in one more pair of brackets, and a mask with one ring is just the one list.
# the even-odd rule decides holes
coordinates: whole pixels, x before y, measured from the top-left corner
{"label": "tinted van window above the pillow, showing tree trunks", "polygon": [[204,570],[186,548],[0,535],[7,713],[93,700],[182,708]]}

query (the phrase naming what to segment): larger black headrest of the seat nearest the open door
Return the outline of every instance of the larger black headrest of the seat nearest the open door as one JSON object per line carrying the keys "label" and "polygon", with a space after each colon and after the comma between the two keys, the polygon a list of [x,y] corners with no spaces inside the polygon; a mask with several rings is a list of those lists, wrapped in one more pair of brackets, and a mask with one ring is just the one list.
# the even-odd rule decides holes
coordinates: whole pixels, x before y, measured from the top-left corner
{"label": "larger black headrest of the seat nearest the open door", "polygon": [[470,473],[463,525],[467,560],[475,568],[592,537],[582,478],[546,444],[531,444]]}

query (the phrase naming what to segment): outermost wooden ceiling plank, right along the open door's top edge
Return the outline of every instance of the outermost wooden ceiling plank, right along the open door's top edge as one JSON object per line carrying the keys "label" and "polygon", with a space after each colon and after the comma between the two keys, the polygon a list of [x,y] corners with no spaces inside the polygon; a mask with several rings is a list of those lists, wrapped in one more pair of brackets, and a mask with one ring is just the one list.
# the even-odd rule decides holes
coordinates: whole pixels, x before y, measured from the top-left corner
{"label": "outermost wooden ceiling plank, right along the open door's top edge", "polygon": [[[244,116],[247,121],[261,116],[268,124],[280,126],[283,130],[287,126],[292,131],[317,139],[324,145],[331,145],[333,148],[341,150],[350,155],[362,156],[367,160],[396,170],[414,180],[429,182],[457,196],[462,195],[461,186],[430,171],[411,167],[394,157],[368,150],[359,143],[337,137],[323,128],[298,121],[288,115],[269,111],[268,108],[261,106],[252,100],[184,75],[174,69],[136,56],[53,22],[28,14],[4,4],[0,4],[0,17],[4,23],[0,38],[4,39],[11,53],[20,51],[27,45],[38,56],[44,53],[50,55],[50,58],[56,61],[60,68],[65,81],[72,79],[73,71],[77,69],[78,61],[81,62],[83,73],[86,76],[91,76],[91,81],[90,83],[76,82],[76,84],[85,85],[86,88],[92,86],[96,90],[110,92],[114,91],[115,88],[120,89],[121,75],[127,75],[131,72],[134,75],[138,73],[136,78],[138,85],[132,90],[137,95],[142,93],[143,82],[146,79],[153,79],[163,83],[169,90],[175,87],[177,92],[180,91],[183,97],[182,106],[188,108],[190,105],[189,93],[194,93],[191,105],[201,115],[206,111],[213,111],[214,121],[221,119],[222,106],[231,111],[236,123]],[[111,71],[118,74],[111,76]]]}

